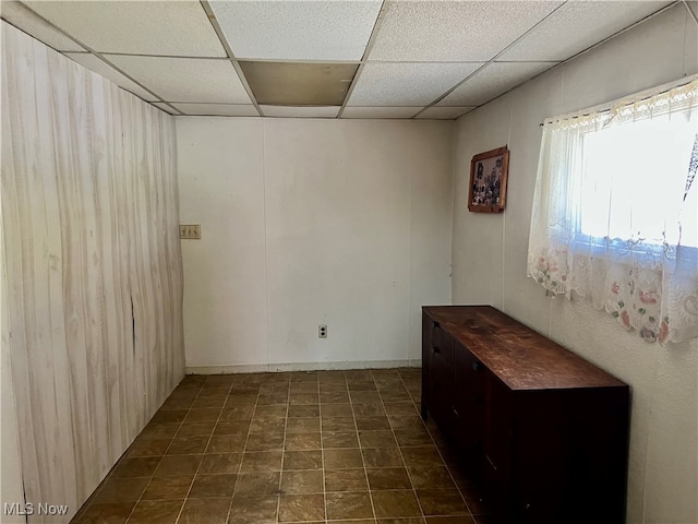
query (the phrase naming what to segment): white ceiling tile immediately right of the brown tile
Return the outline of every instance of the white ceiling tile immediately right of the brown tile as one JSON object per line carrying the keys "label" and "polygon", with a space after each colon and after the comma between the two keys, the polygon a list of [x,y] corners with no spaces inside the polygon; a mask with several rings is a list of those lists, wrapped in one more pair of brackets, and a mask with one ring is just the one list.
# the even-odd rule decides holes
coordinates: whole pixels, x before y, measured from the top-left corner
{"label": "white ceiling tile immediately right of the brown tile", "polygon": [[426,106],[482,63],[366,63],[350,106]]}

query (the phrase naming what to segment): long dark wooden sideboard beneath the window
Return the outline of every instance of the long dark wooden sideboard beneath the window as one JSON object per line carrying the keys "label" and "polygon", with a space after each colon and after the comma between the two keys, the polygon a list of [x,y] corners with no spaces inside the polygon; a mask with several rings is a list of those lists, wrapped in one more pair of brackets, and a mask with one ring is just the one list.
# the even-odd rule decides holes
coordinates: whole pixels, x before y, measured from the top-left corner
{"label": "long dark wooden sideboard beneath the window", "polygon": [[501,311],[422,308],[428,415],[498,522],[625,522],[628,385]]}

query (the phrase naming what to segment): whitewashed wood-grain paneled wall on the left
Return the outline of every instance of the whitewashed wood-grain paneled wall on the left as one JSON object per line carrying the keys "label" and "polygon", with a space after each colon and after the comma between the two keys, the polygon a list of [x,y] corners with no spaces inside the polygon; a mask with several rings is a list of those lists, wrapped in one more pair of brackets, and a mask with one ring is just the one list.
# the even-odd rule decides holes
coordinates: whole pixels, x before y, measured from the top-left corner
{"label": "whitewashed wood-grain paneled wall on the left", "polygon": [[184,373],[174,147],[170,116],[2,23],[3,343],[26,501],[67,521]]}

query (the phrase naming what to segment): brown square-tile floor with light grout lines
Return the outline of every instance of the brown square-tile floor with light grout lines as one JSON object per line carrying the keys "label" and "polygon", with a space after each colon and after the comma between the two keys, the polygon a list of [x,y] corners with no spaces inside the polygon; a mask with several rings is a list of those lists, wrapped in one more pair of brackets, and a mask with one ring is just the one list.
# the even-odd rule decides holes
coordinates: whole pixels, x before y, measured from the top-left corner
{"label": "brown square-tile floor with light grout lines", "polygon": [[188,376],[75,524],[484,524],[421,371]]}

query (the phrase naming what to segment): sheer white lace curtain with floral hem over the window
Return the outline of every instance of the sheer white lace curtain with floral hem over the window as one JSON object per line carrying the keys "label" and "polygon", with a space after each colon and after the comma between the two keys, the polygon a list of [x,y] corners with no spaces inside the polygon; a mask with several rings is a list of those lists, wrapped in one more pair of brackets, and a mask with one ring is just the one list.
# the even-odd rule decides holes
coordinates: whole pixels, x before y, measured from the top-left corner
{"label": "sheer white lace curtain with floral hem over the window", "polygon": [[698,337],[698,80],[543,127],[528,276],[648,342]]}

